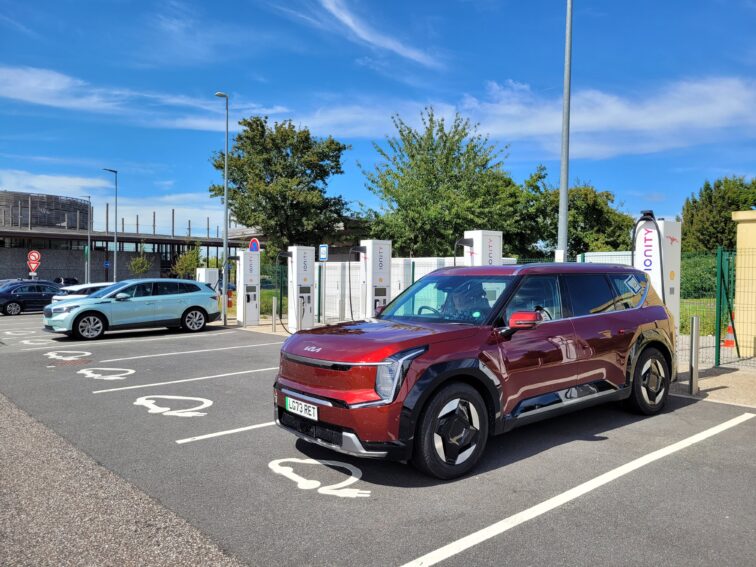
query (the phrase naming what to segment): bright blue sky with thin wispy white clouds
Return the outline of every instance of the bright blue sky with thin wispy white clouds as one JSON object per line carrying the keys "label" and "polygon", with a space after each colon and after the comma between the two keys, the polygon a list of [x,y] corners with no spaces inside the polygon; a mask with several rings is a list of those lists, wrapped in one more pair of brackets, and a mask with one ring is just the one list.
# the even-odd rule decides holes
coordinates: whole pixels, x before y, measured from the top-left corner
{"label": "bright blue sky with thin wispy white clouds", "polygon": [[[377,205],[357,162],[391,115],[459,111],[518,181],[559,178],[563,0],[0,0],[0,188],[91,195],[120,173],[127,227],[220,224],[207,188],[223,90],[241,117],[352,146],[329,192]],[[756,0],[575,0],[571,181],[679,213],[704,180],[756,175]],[[112,209],[111,209],[112,211]],[[214,231],[213,231],[214,232]]]}

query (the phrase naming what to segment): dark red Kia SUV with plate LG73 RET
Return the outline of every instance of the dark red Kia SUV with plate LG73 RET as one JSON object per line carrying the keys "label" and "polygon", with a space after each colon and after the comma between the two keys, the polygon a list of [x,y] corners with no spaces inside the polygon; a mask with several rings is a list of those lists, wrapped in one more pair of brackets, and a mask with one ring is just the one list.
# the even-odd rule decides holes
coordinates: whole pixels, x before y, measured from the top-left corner
{"label": "dark red Kia SUV with plate LG73 RET", "polygon": [[520,425],[614,400],[659,412],[674,332],[627,266],[444,268],[373,319],[290,337],[275,417],[312,443],[454,478]]}

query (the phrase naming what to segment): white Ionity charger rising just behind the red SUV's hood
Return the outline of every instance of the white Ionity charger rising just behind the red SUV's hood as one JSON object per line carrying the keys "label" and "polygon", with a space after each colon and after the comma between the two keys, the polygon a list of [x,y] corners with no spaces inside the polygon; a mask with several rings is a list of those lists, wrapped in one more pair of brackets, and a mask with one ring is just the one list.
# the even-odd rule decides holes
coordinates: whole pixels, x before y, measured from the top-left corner
{"label": "white Ionity charger rising just behind the red SUV's hood", "polygon": [[367,319],[391,300],[391,241],[361,240],[360,251],[361,316]]}

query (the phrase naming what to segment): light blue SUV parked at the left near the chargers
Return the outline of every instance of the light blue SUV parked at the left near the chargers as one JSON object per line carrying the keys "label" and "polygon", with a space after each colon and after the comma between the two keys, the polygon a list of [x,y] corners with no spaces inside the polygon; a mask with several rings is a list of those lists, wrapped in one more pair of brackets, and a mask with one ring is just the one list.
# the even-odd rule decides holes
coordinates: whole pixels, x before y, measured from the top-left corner
{"label": "light blue SUV parked at the left near the chargers", "polygon": [[138,279],[46,307],[44,328],[89,340],[106,331],[145,327],[197,332],[219,316],[217,293],[205,285],[191,280]]}

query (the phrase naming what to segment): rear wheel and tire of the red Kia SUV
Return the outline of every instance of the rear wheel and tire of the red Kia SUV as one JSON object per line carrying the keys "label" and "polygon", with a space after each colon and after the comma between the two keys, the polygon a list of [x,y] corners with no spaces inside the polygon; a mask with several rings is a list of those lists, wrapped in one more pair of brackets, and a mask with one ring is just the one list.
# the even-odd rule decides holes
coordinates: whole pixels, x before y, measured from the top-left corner
{"label": "rear wheel and tire of the red Kia SUV", "polygon": [[645,349],[633,372],[633,390],[627,405],[644,415],[660,412],[669,395],[671,372],[664,354],[659,349]]}

